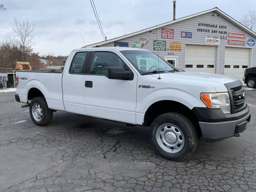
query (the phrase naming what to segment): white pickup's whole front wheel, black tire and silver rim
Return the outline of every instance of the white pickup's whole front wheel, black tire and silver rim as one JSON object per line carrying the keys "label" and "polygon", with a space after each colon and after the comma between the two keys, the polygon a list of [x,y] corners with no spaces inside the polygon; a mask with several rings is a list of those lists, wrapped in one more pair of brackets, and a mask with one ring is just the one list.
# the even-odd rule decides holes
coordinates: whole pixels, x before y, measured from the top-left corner
{"label": "white pickup's whole front wheel, black tire and silver rim", "polygon": [[150,140],[160,156],[181,161],[195,151],[198,139],[194,125],[187,117],[165,113],[151,124]]}

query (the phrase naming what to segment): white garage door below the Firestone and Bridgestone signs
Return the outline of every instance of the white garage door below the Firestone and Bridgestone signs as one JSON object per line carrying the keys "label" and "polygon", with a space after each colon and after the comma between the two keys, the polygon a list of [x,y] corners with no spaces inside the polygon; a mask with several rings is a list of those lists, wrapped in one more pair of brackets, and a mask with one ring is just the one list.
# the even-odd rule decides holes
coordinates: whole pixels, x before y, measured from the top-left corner
{"label": "white garage door below the Firestone and Bridgestone signs", "polygon": [[250,49],[225,48],[224,75],[239,79],[242,83],[244,70],[249,67]]}

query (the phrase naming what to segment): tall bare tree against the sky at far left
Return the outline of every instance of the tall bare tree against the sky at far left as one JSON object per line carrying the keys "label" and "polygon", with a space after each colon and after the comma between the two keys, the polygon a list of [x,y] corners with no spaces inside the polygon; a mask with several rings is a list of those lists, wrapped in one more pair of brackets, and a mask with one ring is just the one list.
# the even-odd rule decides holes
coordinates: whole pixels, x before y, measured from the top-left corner
{"label": "tall bare tree against the sky at far left", "polygon": [[23,20],[22,22],[18,21],[17,18],[14,18],[15,25],[13,27],[13,31],[18,36],[18,43],[22,51],[25,51],[27,48],[31,48],[31,46],[35,43],[33,42],[33,31],[35,29],[35,23],[32,25],[28,22],[28,19]]}

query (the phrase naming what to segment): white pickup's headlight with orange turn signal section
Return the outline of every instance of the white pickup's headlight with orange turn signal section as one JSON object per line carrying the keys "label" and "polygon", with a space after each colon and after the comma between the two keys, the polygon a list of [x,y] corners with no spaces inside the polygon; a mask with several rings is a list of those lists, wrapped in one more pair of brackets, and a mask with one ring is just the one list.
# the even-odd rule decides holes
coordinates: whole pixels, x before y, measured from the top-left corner
{"label": "white pickup's headlight with orange turn signal section", "polygon": [[201,93],[201,100],[208,108],[220,108],[224,114],[230,113],[230,100],[225,93]]}

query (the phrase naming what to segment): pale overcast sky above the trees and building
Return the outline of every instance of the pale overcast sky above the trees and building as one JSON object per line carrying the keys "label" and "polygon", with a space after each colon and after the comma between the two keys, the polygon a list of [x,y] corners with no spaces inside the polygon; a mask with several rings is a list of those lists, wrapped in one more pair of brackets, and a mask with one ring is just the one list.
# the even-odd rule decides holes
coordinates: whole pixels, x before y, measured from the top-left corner
{"label": "pale overcast sky above the trees and building", "polygon": [[[172,0],[94,0],[107,39],[171,21]],[[73,49],[103,40],[90,0],[0,0],[0,40],[15,36],[14,17],[35,22],[34,52],[68,55]],[[240,21],[256,0],[177,0],[176,19],[218,7]]]}

